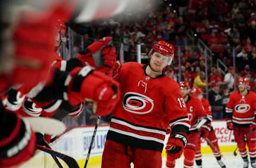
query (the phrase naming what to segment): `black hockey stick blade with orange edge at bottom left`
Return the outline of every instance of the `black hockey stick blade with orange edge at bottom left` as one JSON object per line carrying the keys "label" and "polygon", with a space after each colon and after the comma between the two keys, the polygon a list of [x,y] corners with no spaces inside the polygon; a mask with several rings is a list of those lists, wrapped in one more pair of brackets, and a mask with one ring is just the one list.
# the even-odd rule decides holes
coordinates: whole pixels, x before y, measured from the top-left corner
{"label": "black hockey stick blade with orange edge at bottom left", "polygon": [[49,153],[50,155],[59,157],[60,159],[62,159],[62,161],[64,161],[68,167],[70,168],[79,168],[76,160],[70,156],[67,156],[65,154],[59,153],[55,150],[52,150],[50,148],[44,147],[42,145],[37,145],[37,149],[42,150],[43,152]]}

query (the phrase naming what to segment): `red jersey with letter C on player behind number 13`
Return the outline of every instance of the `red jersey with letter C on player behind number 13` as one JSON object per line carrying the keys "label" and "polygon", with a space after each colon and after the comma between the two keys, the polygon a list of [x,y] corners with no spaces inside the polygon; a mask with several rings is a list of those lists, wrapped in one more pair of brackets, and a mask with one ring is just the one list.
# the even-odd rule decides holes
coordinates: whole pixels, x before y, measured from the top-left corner
{"label": "red jersey with letter C on player behind number 13", "polygon": [[207,116],[201,100],[195,96],[188,96],[186,102],[188,117],[191,123],[189,131],[197,131],[196,126],[202,117]]}

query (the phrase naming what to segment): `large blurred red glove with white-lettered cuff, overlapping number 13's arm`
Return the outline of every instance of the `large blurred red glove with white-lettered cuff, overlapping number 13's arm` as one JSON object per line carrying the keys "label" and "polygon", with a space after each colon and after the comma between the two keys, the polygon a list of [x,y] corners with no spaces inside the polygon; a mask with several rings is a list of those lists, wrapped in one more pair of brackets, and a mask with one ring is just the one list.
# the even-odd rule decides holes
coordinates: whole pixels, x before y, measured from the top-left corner
{"label": "large blurred red glove with white-lettered cuff, overlapping number 13's arm", "polygon": [[90,66],[78,67],[70,72],[68,83],[68,101],[72,105],[85,102],[86,99],[97,102],[96,115],[108,115],[120,97],[119,83]]}

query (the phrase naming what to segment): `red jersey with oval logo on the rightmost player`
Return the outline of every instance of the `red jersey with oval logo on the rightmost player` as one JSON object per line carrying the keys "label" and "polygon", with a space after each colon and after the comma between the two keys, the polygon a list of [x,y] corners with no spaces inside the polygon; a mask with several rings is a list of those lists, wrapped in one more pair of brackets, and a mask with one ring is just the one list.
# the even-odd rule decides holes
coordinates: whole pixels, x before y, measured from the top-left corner
{"label": "red jersey with oval logo on the rightmost player", "polygon": [[[226,105],[227,121],[232,121],[237,127],[250,127],[256,117],[256,94],[248,90],[248,94],[241,96],[234,91]],[[256,123],[254,123],[256,124]]]}

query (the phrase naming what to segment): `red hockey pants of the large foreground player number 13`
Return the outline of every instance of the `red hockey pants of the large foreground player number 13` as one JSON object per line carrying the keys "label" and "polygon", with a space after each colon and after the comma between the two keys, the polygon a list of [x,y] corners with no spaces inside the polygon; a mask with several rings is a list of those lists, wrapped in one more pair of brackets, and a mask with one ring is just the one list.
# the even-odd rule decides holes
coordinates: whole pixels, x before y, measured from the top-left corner
{"label": "red hockey pants of the large foreground player number 13", "polygon": [[156,150],[133,148],[113,140],[106,140],[101,168],[161,168],[162,154]]}

